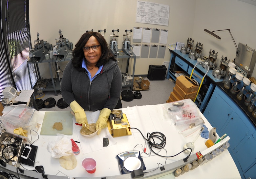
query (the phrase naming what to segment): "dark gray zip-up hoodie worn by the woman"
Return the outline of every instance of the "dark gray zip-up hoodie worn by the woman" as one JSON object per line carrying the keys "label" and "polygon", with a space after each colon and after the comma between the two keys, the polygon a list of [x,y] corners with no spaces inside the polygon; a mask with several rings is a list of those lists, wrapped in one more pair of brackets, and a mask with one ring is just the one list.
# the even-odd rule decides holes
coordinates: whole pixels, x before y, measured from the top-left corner
{"label": "dark gray zip-up hoodie worn by the woman", "polygon": [[70,105],[74,100],[85,111],[97,111],[116,107],[122,88],[122,74],[117,62],[109,60],[95,78],[90,81],[87,71],[79,72],[70,61],[61,81],[61,95]]}

